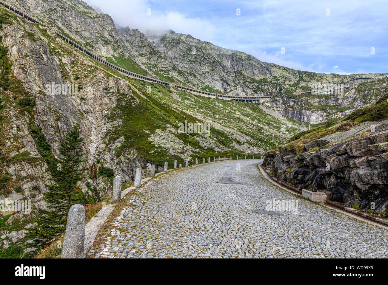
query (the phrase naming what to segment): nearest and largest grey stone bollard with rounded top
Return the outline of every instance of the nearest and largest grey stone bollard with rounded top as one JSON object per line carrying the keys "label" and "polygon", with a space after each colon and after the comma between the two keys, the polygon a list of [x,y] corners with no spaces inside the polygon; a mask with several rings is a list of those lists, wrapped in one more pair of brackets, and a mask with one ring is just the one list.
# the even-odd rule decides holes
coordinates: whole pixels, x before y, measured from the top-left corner
{"label": "nearest and largest grey stone bollard with rounded top", "polygon": [[61,258],[84,258],[84,243],[85,207],[74,204],[69,209]]}

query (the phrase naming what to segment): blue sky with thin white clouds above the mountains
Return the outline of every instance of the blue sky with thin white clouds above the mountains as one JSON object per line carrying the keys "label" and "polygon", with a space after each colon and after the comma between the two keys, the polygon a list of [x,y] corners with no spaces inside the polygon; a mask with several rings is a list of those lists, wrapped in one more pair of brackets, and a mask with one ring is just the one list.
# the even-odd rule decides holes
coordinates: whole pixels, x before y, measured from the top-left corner
{"label": "blue sky with thin white clouds above the mountains", "polygon": [[388,73],[387,0],[86,2],[120,26],[173,29],[298,70]]}

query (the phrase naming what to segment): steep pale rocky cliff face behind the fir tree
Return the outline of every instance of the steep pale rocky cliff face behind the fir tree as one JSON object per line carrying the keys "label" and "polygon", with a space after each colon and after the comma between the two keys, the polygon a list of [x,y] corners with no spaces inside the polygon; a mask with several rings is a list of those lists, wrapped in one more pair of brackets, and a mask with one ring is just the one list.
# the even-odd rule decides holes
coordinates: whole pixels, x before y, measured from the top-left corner
{"label": "steep pale rocky cliff face behind the fir tree", "polygon": [[[7,249],[12,244],[31,242],[26,241],[25,234],[36,226],[34,209],[46,209],[43,193],[47,192],[47,185],[52,184],[45,159],[48,153],[61,158],[58,147],[64,132],[75,123],[80,124],[87,143],[84,149],[88,154],[87,169],[97,157],[109,152],[101,145],[104,135],[115,124],[107,120],[106,115],[116,105],[116,97],[107,90],[124,84],[123,80],[109,78],[95,69],[74,50],[59,49],[63,43],[52,38],[52,31],[5,14],[3,9],[0,12],[4,79],[0,87],[0,244]],[[70,82],[79,85],[78,95],[47,91],[46,85],[63,86]],[[87,88],[82,90],[81,85]],[[122,90],[132,94],[128,88]],[[107,165],[109,163],[106,161]],[[120,164],[114,163],[114,166]],[[130,171],[128,169],[128,173]],[[92,187],[87,187],[86,183]],[[111,184],[102,177],[92,180],[86,176],[79,186],[92,199],[96,198],[95,193],[104,199],[111,191]],[[16,203],[26,203],[26,207],[18,211]]]}

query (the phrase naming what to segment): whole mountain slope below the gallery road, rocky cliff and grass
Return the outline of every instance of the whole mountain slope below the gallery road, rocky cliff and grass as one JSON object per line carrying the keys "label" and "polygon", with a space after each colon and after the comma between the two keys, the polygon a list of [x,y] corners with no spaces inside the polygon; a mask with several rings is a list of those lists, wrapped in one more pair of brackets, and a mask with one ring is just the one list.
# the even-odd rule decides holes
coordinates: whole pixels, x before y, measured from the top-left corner
{"label": "whole mountain slope below the gallery road, rocky cliff and grass", "polygon": [[[127,78],[87,57],[55,36],[0,7],[0,200],[30,201],[31,212],[2,209],[2,256],[27,247],[35,209],[47,208],[43,193],[53,183],[49,159],[58,159],[63,135],[80,125],[86,169],[77,184],[88,201],[109,199],[113,177],[102,166],[133,180],[148,163],[157,171],[175,159],[246,155],[304,130],[300,122],[263,105],[224,101]],[[89,27],[93,29],[93,27]],[[73,36],[74,38],[74,36]],[[75,38],[78,42],[78,38]],[[138,66],[139,67],[139,66]],[[140,67],[139,67],[140,68]],[[77,94],[47,85],[76,85]],[[58,91],[58,92],[57,92]],[[208,123],[210,135],[179,132],[179,123]],[[27,249],[28,252],[31,249]]]}

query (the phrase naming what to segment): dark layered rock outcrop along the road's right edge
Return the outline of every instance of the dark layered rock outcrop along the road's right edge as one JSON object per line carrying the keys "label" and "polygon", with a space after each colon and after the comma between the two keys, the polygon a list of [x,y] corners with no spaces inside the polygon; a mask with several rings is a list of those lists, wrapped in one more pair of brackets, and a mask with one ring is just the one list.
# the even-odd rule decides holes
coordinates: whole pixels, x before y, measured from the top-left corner
{"label": "dark layered rock outcrop along the road's right edge", "polygon": [[[305,143],[301,153],[282,145],[265,154],[263,166],[298,188],[329,190],[346,207],[388,217],[388,120],[331,127],[331,134]],[[371,131],[372,130],[372,131]]]}

